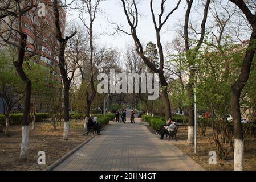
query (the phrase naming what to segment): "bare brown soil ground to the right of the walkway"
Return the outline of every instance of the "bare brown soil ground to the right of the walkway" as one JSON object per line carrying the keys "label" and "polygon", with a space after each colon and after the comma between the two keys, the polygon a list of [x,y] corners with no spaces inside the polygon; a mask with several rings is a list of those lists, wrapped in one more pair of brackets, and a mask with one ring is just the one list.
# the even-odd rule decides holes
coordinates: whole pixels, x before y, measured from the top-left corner
{"label": "bare brown soil ground to the right of the walkway", "polygon": [[[178,140],[171,140],[175,146],[180,148],[186,155],[191,156],[197,163],[199,163],[206,170],[233,170],[234,160],[233,160],[233,152],[230,152],[227,160],[221,160],[217,158],[216,165],[210,165],[208,160],[210,156],[208,156],[209,151],[216,150],[213,143],[213,137],[211,135],[212,131],[208,129],[206,131],[206,135],[208,137],[197,137],[197,154],[194,154],[194,145],[187,144],[187,132],[188,128],[180,127],[178,129],[177,138]],[[210,140],[213,144],[210,144]],[[256,138],[246,137],[246,152],[245,152],[245,170],[256,170]]]}

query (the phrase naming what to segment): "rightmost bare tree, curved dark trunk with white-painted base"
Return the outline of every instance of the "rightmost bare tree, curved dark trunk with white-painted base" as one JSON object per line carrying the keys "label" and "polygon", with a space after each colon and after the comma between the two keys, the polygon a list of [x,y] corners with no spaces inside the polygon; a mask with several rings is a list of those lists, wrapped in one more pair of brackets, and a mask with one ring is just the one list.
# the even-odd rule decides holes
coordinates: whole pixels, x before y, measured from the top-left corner
{"label": "rightmost bare tree, curved dark trunk with white-painted base", "polygon": [[[245,143],[243,139],[243,130],[241,123],[241,109],[240,109],[240,97],[241,92],[249,78],[251,64],[254,59],[256,47],[255,47],[255,39],[256,39],[256,13],[255,7],[251,9],[250,3],[246,3],[241,0],[230,0],[235,5],[239,7],[242,13],[246,16],[247,21],[250,23],[252,27],[251,37],[249,46],[245,53],[245,57],[243,58],[243,63],[241,65],[241,71],[237,80],[235,80],[234,84],[231,86],[232,95],[231,95],[231,111],[234,122],[234,170],[243,170],[244,169],[244,155],[245,155]],[[248,1],[249,2],[249,1]],[[252,13],[254,11],[254,14]]]}

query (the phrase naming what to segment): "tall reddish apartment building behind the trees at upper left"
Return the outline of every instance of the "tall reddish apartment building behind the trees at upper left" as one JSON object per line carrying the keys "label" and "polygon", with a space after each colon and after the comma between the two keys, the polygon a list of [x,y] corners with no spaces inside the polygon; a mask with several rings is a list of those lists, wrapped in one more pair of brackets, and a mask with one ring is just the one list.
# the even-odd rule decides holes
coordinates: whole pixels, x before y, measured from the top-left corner
{"label": "tall reddish apartment building behind the trees at upper left", "polygon": [[[5,0],[3,0],[5,1]],[[7,0],[6,0],[7,1]],[[43,3],[45,6],[45,16],[40,15],[38,11],[42,6],[35,7],[22,16],[22,31],[27,35],[26,55],[34,54],[33,60],[44,65],[46,68],[53,68],[52,74],[60,75],[58,68],[58,41],[55,36],[55,16],[53,11],[53,0],[33,0],[34,3]],[[31,1],[23,0],[23,6]],[[1,2],[3,3],[3,2]],[[1,6],[0,3],[0,6]],[[66,9],[61,0],[59,0],[60,28],[62,32],[65,30]],[[10,20],[8,17],[5,22],[11,24],[13,28],[17,28],[17,19]],[[3,28],[1,25],[0,28]],[[17,41],[18,34],[13,31],[11,42]],[[0,49],[4,49],[5,45],[0,44]],[[42,110],[44,103],[40,103],[39,110]],[[14,106],[14,109],[22,109],[22,102]],[[3,112],[3,102],[0,100],[0,113]]]}

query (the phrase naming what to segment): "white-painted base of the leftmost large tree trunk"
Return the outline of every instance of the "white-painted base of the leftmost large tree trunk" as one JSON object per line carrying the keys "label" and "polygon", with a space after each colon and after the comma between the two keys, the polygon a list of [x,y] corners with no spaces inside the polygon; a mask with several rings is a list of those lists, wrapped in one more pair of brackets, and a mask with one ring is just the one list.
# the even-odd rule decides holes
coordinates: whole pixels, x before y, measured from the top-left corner
{"label": "white-painted base of the leftmost large tree trunk", "polygon": [[29,147],[29,126],[22,126],[22,139],[21,139],[21,160],[27,160],[27,149]]}

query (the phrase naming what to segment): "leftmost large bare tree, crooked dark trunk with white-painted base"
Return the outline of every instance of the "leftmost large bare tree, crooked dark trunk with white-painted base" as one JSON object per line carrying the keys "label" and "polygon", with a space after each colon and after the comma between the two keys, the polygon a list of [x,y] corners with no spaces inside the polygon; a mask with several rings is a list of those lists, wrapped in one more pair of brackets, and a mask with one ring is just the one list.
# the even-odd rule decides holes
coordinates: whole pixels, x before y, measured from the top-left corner
{"label": "leftmost large bare tree, crooked dark trunk with white-painted base", "polygon": [[6,0],[1,2],[0,8],[0,25],[1,42],[9,44],[15,47],[17,52],[16,60],[13,62],[15,69],[24,83],[25,97],[23,106],[23,118],[22,118],[22,142],[20,159],[26,160],[28,154],[29,144],[29,110],[30,110],[30,98],[31,98],[31,80],[27,77],[23,63],[31,57],[31,55],[25,55],[27,46],[27,34],[23,31],[24,23],[23,19],[26,14],[35,9],[37,6],[34,1],[12,1]]}

